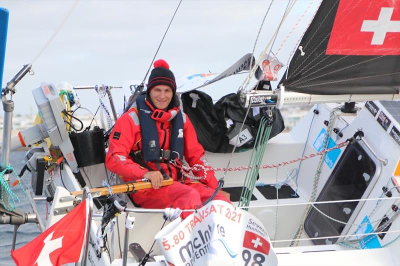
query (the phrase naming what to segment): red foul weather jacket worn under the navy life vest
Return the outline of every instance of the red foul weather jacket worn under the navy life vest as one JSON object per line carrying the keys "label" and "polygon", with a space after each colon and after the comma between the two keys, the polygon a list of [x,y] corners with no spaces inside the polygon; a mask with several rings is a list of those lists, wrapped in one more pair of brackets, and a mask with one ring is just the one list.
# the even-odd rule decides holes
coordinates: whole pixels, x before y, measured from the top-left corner
{"label": "red foul weather jacket worn under the navy life vest", "polygon": [[[189,166],[195,164],[204,165],[204,149],[197,141],[196,132],[188,116],[184,113],[182,113],[182,115],[184,160],[189,164]],[[160,148],[169,150],[171,122],[154,122],[158,132]],[[132,108],[121,115],[115,122],[109,138],[109,147],[105,158],[105,166],[108,170],[122,176],[122,179],[125,182],[141,179],[149,170],[135,163],[129,156],[131,151],[135,152],[139,150],[142,150],[140,123],[137,109]],[[145,164],[153,171],[159,171],[153,162],[146,162]],[[178,169],[168,162],[160,162],[159,164],[169,177],[172,177],[174,181],[177,181]],[[197,171],[193,172],[193,174],[195,176],[202,176],[203,172]],[[189,183],[190,180],[186,179],[185,182]],[[200,182],[212,189],[215,189],[218,185],[213,171],[207,171],[206,178],[200,180]]]}

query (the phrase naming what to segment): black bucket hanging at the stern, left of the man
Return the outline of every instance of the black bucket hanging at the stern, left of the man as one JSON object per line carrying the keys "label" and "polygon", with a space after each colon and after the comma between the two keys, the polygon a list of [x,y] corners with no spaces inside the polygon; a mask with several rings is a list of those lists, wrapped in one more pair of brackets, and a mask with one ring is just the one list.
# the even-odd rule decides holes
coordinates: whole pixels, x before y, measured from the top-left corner
{"label": "black bucket hanging at the stern, left of the man", "polygon": [[78,167],[101,164],[105,161],[104,130],[94,127],[69,135]]}

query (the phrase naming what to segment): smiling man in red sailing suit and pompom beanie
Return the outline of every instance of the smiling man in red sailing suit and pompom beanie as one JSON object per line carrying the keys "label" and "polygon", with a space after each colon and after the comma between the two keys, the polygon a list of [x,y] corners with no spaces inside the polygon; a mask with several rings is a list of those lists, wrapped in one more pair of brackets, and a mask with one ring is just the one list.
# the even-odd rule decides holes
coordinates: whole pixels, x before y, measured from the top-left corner
{"label": "smiling man in red sailing suit and pompom beanie", "polygon": [[[130,194],[143,208],[194,209],[215,191],[213,171],[193,171],[200,182],[180,175],[176,164],[182,157],[189,164],[206,168],[204,149],[198,143],[189,118],[179,109],[176,83],[164,60],[154,62],[147,91],[136,100],[136,107],[121,115],[109,138],[105,166],[129,182],[150,180],[152,188]],[[161,187],[162,180],[172,177],[174,183]],[[229,202],[219,192],[214,200]],[[182,218],[189,215],[181,214]]]}

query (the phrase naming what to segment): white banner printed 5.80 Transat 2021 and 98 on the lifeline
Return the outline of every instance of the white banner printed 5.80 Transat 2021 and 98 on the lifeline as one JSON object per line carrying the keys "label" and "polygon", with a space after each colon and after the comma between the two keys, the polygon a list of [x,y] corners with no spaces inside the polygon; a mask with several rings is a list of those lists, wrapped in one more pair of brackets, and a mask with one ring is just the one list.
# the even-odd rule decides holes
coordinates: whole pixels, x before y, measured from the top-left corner
{"label": "white banner printed 5.80 Transat 2021 and 98 on the lifeline", "polygon": [[224,201],[211,201],[183,221],[172,221],[155,240],[175,266],[277,265],[261,222]]}

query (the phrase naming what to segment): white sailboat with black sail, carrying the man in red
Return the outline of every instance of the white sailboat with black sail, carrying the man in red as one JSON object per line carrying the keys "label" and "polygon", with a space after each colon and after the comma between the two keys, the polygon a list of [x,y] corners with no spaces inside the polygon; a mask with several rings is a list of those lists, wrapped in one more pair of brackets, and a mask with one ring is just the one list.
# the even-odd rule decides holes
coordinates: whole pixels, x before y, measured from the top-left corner
{"label": "white sailboat with black sail, carrying the man in red", "polygon": [[[295,45],[276,88],[270,81],[277,79],[281,63],[267,49],[257,60],[246,54],[220,74],[182,78],[182,108],[191,120],[198,121],[193,125],[200,143],[210,146],[206,156],[223,181],[219,189],[230,193],[229,208],[251,215],[244,228],[253,234],[266,232],[266,242],[254,239],[252,249],[245,248],[243,239],[228,242],[239,248],[224,246],[240,263],[214,257],[207,264],[400,264],[399,44],[398,2],[324,0]],[[249,74],[239,90],[215,104],[197,90],[242,70]],[[3,103],[28,71],[29,65],[24,66],[7,83]],[[250,85],[253,75],[257,80]],[[141,85],[140,81],[127,83],[125,108],[130,108]],[[109,87],[93,89],[101,89],[105,95]],[[192,245],[191,250],[179,253],[182,243],[178,243],[184,237],[174,235],[174,230],[184,227],[186,220],[174,219],[163,227],[162,214],[170,216],[173,210],[146,210],[135,207],[128,197],[124,201],[123,194],[116,197],[141,186],[148,189],[150,184],[119,184],[118,178],[107,172],[103,130],[68,134],[68,128],[74,129],[68,120],[73,117],[67,115],[70,107],[65,109],[67,100],[62,102],[63,96],[60,99],[56,88],[47,83],[32,93],[42,123],[11,138],[6,122],[12,111],[4,108],[8,112],[4,134],[8,135],[3,138],[1,164],[8,164],[9,150],[29,147],[26,168],[34,180],[32,207],[40,199],[51,207],[44,225],[37,213],[23,216],[5,210],[2,203],[2,216],[9,217],[10,224],[13,217],[25,217],[14,220],[19,221],[15,226],[33,222],[44,230],[89,199],[94,205],[81,255],[83,265],[168,265],[174,256],[181,259],[173,261],[175,265],[203,262],[199,258],[208,256],[210,250],[197,254]],[[314,105],[290,132],[279,133],[279,109],[300,104]],[[107,111],[105,105],[102,109],[106,121],[116,119],[114,109]],[[273,130],[276,134],[271,134]],[[46,138],[52,143],[50,148]],[[202,208],[212,204],[210,201]],[[212,233],[221,234],[220,225],[215,222]],[[244,231],[230,235],[244,237]],[[154,237],[160,245],[154,245]],[[168,252],[173,237],[177,237],[178,250]],[[273,247],[270,256],[274,259],[257,250],[261,244]]]}

